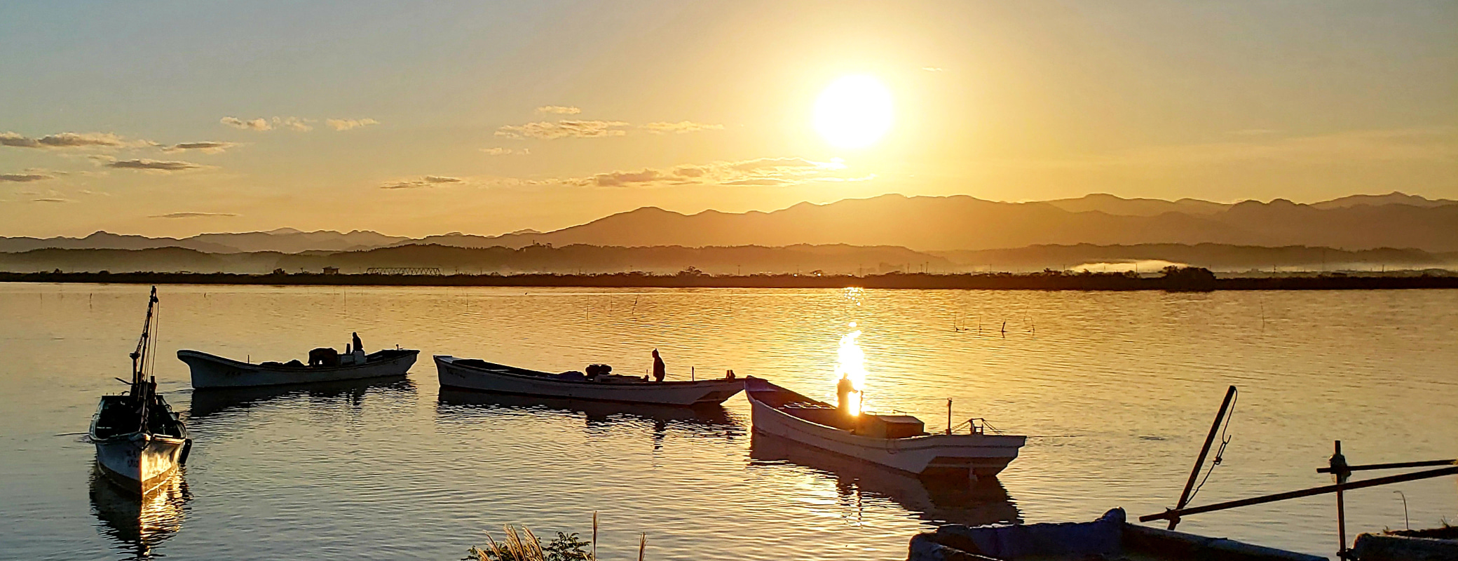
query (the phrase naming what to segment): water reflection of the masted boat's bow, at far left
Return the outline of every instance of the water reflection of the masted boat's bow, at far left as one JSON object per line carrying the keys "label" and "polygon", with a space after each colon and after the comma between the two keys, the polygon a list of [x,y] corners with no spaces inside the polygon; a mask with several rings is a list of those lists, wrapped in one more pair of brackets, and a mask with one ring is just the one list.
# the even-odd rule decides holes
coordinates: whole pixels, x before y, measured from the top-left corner
{"label": "water reflection of the masted boat's bow, at far left", "polygon": [[162,557],[155,549],[182,529],[191,498],[181,471],[139,497],[92,468],[90,500],[92,514],[99,522],[96,530],[117,542],[117,549],[124,551],[127,560]]}

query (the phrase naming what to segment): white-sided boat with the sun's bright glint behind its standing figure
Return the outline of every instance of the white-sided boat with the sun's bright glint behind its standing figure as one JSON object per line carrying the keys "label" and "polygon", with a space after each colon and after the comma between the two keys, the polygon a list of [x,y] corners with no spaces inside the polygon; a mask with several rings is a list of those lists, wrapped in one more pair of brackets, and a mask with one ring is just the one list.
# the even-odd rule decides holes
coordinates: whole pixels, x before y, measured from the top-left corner
{"label": "white-sided boat with the sun's bright glint behind its standing figure", "polygon": [[765,379],[745,377],[749,420],[761,434],[790,439],[919,476],[993,476],[1018,458],[1025,436],[927,434],[910,415],[846,414]]}

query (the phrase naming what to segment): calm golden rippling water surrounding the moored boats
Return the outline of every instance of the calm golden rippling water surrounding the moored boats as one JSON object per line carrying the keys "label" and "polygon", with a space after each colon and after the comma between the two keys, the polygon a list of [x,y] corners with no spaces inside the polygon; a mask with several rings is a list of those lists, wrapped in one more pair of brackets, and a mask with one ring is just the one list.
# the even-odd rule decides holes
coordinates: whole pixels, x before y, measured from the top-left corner
{"label": "calm golden rippling water surrounding the moored boats", "polygon": [[[1321,485],[1353,463],[1458,455],[1458,291],[1038,293],[160,287],[157,377],[197,440],[139,509],[93,482],[82,433],[121,389],[141,286],[0,284],[0,558],[458,560],[503,523],[590,532],[602,558],[898,560],[936,522],[1088,520],[1172,506],[1226,385],[1225,463],[1197,504]],[[975,488],[751,437],[748,404],[634,411],[442,393],[429,354],[542,370],[607,361],[671,377],[770,377],[831,396],[863,331],[868,407],[1028,434]],[[1006,334],[1002,332],[1006,322]],[[981,325],[981,331],[978,331]],[[178,348],[251,360],[420,348],[405,380],[194,393]],[[1352,533],[1458,519],[1454,478],[1349,494]],[[1190,517],[1181,529],[1336,549],[1334,498]],[[144,523],[139,527],[139,511]]]}

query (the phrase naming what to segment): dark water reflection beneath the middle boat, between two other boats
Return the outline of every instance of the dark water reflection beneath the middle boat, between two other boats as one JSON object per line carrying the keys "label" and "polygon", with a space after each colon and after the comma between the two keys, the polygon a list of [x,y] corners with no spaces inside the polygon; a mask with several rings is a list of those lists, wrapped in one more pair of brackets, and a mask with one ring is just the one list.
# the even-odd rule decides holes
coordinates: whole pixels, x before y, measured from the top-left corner
{"label": "dark water reflection beneath the middle boat, between two other boats", "polygon": [[617,404],[563,398],[535,398],[490,392],[440,388],[436,414],[461,411],[558,411],[585,417],[589,433],[615,428],[623,423],[652,423],[653,447],[662,447],[668,428],[685,430],[697,436],[723,436],[729,440],[744,436],[744,421],[722,405],[671,407],[652,404]]}

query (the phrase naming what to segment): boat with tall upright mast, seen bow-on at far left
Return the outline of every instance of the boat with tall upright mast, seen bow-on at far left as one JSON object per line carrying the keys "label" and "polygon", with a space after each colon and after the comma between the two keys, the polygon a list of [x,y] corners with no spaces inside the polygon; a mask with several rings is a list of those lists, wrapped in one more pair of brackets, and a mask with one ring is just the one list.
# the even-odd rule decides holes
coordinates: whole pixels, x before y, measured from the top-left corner
{"label": "boat with tall upright mast, seen bow-on at far left", "polygon": [[156,305],[157,289],[152,287],[147,321],[131,353],[131,388],[101,398],[89,431],[96,444],[96,466],[124,490],[140,495],[166,482],[187,462],[192,446],[187,427],[157,395],[157,380],[149,373],[156,353],[152,340]]}

